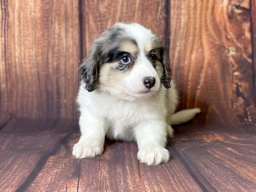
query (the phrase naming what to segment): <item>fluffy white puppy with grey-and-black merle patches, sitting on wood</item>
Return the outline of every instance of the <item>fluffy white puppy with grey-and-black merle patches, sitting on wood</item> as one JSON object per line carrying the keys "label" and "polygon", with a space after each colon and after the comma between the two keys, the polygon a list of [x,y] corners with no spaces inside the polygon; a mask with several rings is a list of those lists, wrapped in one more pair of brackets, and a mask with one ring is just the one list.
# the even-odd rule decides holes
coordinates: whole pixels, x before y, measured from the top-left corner
{"label": "fluffy white puppy with grey-and-black merle patches, sitting on wood", "polygon": [[177,113],[175,84],[166,50],[156,35],[137,23],[116,23],[93,42],[79,67],[81,138],[77,158],[102,154],[105,136],[136,141],[138,160],[157,165],[169,160],[171,125],[192,119],[200,109]]}

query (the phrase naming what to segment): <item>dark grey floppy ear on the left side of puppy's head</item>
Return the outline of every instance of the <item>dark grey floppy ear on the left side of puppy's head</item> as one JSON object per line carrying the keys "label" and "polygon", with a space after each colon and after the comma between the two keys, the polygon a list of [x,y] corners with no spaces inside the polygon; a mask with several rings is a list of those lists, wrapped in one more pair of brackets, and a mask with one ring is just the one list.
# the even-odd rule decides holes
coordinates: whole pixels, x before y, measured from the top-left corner
{"label": "dark grey floppy ear on the left side of puppy's head", "polygon": [[99,68],[99,51],[95,46],[90,48],[89,55],[82,61],[81,66],[78,69],[79,76],[81,78],[81,84],[87,91],[91,92],[95,90],[96,82],[98,79]]}

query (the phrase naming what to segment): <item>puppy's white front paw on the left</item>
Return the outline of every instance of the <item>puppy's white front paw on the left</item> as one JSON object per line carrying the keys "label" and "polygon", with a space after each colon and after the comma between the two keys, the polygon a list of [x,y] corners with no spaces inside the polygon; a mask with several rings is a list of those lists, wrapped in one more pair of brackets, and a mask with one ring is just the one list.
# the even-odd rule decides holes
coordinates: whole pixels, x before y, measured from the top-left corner
{"label": "puppy's white front paw on the left", "polygon": [[103,152],[104,142],[93,139],[83,139],[79,140],[78,143],[74,145],[72,154],[76,158],[91,158],[101,155]]}

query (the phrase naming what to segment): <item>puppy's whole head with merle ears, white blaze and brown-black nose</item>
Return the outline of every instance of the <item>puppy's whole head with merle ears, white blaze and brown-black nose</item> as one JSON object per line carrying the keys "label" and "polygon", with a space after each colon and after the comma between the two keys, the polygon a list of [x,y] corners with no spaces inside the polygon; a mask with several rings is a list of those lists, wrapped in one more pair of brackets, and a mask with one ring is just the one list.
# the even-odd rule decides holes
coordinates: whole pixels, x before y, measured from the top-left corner
{"label": "puppy's whole head with merle ears, white blaze and brown-black nose", "polygon": [[144,97],[170,87],[166,52],[159,38],[137,23],[116,23],[93,42],[79,67],[84,88]]}

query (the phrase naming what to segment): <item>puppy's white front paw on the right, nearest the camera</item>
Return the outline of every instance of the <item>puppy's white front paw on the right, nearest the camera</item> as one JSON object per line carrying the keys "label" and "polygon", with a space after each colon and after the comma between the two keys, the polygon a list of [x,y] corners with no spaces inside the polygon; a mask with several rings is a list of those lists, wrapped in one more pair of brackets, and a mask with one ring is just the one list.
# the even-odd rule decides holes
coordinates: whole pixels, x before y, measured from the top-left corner
{"label": "puppy's white front paw on the right, nearest the camera", "polygon": [[137,158],[141,163],[145,163],[146,165],[157,165],[169,161],[170,154],[163,147],[151,145],[140,148]]}

